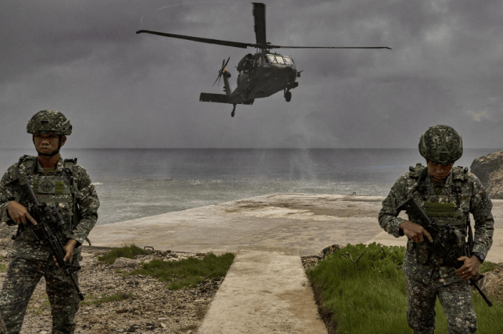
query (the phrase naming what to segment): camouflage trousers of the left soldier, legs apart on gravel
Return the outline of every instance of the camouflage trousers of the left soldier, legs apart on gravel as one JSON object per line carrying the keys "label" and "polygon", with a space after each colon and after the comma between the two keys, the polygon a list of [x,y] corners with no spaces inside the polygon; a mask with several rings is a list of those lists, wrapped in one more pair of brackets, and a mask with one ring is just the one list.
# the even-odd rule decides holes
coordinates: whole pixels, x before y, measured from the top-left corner
{"label": "camouflage trousers of the left soldier, legs apart on gravel", "polygon": [[[76,263],[75,259],[73,264]],[[61,268],[51,261],[16,258],[9,264],[0,293],[0,311],[9,334],[17,334],[23,325],[26,306],[41,277],[46,279],[46,292],[51,302],[53,334],[73,333],[73,318],[80,300],[73,283]],[[77,273],[73,276],[78,281]]]}

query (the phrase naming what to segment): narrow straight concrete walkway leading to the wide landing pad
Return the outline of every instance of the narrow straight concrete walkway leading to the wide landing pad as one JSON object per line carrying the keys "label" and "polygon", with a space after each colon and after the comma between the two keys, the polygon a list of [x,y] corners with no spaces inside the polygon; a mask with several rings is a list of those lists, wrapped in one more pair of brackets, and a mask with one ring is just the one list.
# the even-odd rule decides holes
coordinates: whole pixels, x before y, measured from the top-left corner
{"label": "narrow straight concrete walkway leading to the wide landing pad", "polygon": [[299,251],[240,246],[199,334],[326,334]]}

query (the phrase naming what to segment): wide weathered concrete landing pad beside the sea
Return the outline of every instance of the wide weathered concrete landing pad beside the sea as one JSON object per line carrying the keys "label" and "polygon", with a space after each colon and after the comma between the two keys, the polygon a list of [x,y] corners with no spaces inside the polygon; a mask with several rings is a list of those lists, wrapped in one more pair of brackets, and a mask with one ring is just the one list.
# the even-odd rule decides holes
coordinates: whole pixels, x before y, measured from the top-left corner
{"label": "wide weathered concrete landing pad beside the sea", "polygon": [[[384,197],[334,194],[268,194],[180,212],[98,225],[93,246],[152,246],[190,252],[236,252],[239,246],[291,247],[301,256],[330,244],[405,246],[378,224]],[[495,231],[488,261],[503,262],[503,199],[494,199]],[[405,217],[405,216],[404,216]],[[472,219],[473,221],[473,219]],[[473,224],[473,222],[472,222]]]}

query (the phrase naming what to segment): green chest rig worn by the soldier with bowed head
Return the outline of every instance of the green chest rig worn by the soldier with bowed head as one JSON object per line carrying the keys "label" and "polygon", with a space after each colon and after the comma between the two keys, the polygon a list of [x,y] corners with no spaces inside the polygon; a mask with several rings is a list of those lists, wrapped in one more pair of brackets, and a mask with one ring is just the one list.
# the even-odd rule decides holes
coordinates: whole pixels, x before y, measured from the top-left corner
{"label": "green chest rig worn by the soldier with bowed head", "polygon": [[[455,227],[458,241],[452,247],[458,249],[460,255],[465,254],[465,249],[470,252],[473,247],[472,228],[470,226],[470,194],[467,190],[465,190],[465,193],[463,191],[463,184],[468,181],[468,168],[453,168],[452,184],[444,185],[440,192],[436,192],[430,180],[427,180],[427,167],[417,164],[409,169],[409,177],[413,179],[413,184],[415,184],[410,189],[410,195],[420,204],[430,221],[437,224],[437,226],[450,225]],[[430,184],[427,182],[430,182]],[[467,235],[468,244],[465,241]],[[414,245],[418,262],[427,263],[432,261],[432,254],[428,248],[425,243]],[[441,264],[442,259],[433,262]]]}

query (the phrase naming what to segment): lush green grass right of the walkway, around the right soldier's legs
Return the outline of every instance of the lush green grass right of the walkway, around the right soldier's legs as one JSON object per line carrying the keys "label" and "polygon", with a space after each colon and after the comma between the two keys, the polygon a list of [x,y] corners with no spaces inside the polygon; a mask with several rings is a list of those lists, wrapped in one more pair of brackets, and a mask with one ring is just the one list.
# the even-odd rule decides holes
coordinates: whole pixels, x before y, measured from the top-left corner
{"label": "lush green grass right of the walkway, around the right soldier's legs", "polygon": [[[331,312],[338,333],[412,333],[407,324],[405,274],[401,270],[405,247],[358,244],[327,256],[306,271],[313,287],[321,294],[323,306]],[[484,263],[488,271],[494,263]],[[477,333],[503,333],[503,302],[491,298],[489,308],[477,292],[472,293],[479,330]],[[447,333],[447,320],[437,301],[436,328]]]}

